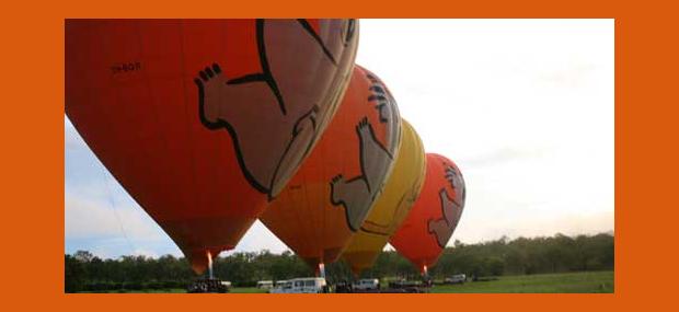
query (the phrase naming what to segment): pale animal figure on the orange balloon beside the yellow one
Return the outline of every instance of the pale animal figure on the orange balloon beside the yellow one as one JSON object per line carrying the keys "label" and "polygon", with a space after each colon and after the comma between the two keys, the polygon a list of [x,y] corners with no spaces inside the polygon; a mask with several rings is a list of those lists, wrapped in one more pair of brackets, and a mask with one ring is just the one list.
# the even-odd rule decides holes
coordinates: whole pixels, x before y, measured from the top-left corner
{"label": "pale animal figure on the orange balloon beside the yellow one", "polygon": [[375,109],[378,109],[380,126],[387,129],[387,138],[382,145],[368,118],[362,118],[356,126],[361,174],[349,180],[338,174],[331,181],[331,203],[344,206],[347,224],[352,231],[360,228],[372,201],[382,190],[384,175],[393,162],[398,136],[401,134],[396,102],[385,91],[381,81],[368,71],[366,74],[372,83],[369,88],[371,95],[368,97],[368,103],[375,104]]}

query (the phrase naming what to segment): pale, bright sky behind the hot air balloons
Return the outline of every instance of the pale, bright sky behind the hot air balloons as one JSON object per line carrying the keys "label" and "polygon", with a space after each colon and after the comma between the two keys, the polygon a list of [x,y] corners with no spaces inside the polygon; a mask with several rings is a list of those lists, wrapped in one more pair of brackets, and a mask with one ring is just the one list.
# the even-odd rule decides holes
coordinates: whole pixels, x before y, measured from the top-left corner
{"label": "pale, bright sky behind the hot air balloons", "polygon": [[[613,20],[360,20],[378,74],[467,206],[449,245],[614,223]],[[65,117],[65,252],[181,255]],[[258,221],[238,251],[287,246]],[[229,254],[229,253],[227,253]]]}

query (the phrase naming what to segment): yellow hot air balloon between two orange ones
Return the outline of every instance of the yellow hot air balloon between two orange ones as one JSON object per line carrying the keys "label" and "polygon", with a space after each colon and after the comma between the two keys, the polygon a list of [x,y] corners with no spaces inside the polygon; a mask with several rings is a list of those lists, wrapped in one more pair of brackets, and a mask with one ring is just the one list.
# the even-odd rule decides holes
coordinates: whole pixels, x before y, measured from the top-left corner
{"label": "yellow hot air balloon between two orange ones", "polygon": [[425,176],[425,152],[415,129],[401,119],[402,138],[391,176],[360,229],[342,253],[355,275],[375,263],[405,220],[419,196]]}

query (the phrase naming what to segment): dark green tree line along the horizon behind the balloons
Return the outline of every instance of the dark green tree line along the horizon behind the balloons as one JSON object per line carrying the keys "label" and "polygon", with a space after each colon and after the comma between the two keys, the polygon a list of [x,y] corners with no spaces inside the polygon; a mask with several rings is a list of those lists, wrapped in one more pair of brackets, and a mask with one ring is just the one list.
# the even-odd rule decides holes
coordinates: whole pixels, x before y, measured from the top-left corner
{"label": "dark green tree line along the horizon behind the balloons", "polygon": [[[65,255],[67,292],[116,289],[184,288],[196,276],[183,257],[164,255],[159,258],[141,255],[100,258],[88,251]],[[567,236],[502,238],[476,244],[456,241],[447,247],[429,276],[442,279],[454,274],[500,276],[542,273],[611,270],[614,266],[612,234]],[[326,264],[330,282],[355,278],[343,262]],[[237,287],[251,287],[258,280],[281,280],[314,275],[301,258],[286,251],[281,254],[241,252],[215,259],[216,277]],[[382,252],[375,265],[360,278],[419,278],[407,259],[393,251]]]}

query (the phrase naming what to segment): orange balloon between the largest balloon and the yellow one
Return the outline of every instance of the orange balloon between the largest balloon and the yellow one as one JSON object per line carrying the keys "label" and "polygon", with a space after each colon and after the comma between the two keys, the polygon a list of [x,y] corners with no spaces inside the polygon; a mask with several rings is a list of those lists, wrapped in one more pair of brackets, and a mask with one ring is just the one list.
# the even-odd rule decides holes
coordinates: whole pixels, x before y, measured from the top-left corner
{"label": "orange balloon between the largest balloon and the yellow one", "polygon": [[323,138],[262,222],[311,267],[334,262],[380,195],[400,142],[393,96],[356,66]]}

